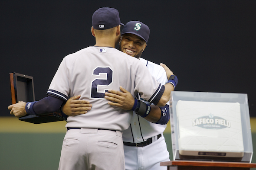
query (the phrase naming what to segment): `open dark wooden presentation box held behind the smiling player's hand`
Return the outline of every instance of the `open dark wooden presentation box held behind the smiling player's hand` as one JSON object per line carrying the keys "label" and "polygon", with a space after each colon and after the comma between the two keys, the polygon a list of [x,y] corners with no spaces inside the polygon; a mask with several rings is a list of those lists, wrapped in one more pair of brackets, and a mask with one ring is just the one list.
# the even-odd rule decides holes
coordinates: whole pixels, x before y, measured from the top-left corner
{"label": "open dark wooden presentation box held behind the smiling player's hand", "polygon": [[[20,73],[10,73],[10,87],[12,104],[18,101],[31,102],[35,101],[33,77]],[[48,113],[45,115],[25,115],[19,120],[34,124],[57,122],[65,120],[60,112]]]}

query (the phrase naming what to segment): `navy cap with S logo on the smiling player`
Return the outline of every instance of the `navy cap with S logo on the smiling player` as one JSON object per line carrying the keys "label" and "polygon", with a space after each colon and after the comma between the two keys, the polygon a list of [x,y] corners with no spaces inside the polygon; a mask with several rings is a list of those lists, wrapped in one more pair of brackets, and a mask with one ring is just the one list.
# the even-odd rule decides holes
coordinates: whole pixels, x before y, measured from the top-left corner
{"label": "navy cap with S logo on the smiling player", "polygon": [[121,35],[123,34],[135,34],[139,37],[143,38],[146,43],[148,43],[149,38],[149,28],[146,24],[140,22],[140,21],[130,21],[127,22],[121,32]]}

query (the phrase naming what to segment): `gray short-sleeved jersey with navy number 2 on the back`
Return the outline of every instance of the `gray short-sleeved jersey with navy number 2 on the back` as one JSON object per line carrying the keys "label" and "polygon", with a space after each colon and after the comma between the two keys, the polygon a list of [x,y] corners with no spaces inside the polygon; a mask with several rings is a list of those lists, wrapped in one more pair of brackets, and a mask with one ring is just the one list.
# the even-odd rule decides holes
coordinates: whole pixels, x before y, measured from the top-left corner
{"label": "gray short-sleeved jersey with navy number 2 on the back", "polygon": [[108,104],[104,93],[122,86],[133,96],[140,92],[143,99],[156,103],[164,87],[151,76],[137,58],[110,47],[88,47],[63,58],[47,94],[67,100],[81,94],[92,110],[70,116],[66,127],[102,128],[123,131],[130,125],[132,111]]}

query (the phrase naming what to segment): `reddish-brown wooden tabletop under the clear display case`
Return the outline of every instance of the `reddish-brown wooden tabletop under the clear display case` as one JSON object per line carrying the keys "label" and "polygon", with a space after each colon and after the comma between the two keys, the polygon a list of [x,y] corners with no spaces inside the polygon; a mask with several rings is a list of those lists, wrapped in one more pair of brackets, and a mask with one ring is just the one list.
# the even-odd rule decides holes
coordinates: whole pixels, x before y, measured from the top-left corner
{"label": "reddish-brown wooden tabletop under the clear display case", "polygon": [[249,170],[256,168],[256,164],[252,163],[190,160],[161,162],[160,166],[167,166],[167,170]]}

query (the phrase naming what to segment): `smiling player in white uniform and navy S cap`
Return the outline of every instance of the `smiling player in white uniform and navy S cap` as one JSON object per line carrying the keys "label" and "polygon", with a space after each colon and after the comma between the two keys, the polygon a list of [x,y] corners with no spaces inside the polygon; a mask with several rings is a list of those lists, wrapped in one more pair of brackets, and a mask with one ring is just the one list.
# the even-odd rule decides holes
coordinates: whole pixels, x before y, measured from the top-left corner
{"label": "smiling player in white uniform and navy S cap", "polygon": [[[120,51],[127,53],[135,58],[138,62],[142,62],[150,71],[151,75],[158,82],[165,84],[168,79],[163,67],[151,61],[141,58],[141,54],[146,48],[149,38],[149,28],[142,22],[130,21],[125,24],[119,41]],[[174,86],[177,85],[177,77],[175,77]],[[136,99],[123,88],[120,91],[112,90],[112,95],[106,93],[105,97],[115,103],[109,103],[113,106],[119,106],[123,109],[131,109],[135,101],[138,99],[144,103],[148,103],[139,96]],[[75,99],[75,98],[74,98]],[[65,113],[71,113],[71,109],[75,112],[85,111],[86,107],[80,105],[82,100],[74,100],[77,105],[70,105],[72,100],[63,106]],[[80,107],[80,109],[79,109]],[[74,113],[74,112],[73,112]],[[78,113],[77,113],[78,114]],[[151,111],[147,116],[133,114],[131,124],[127,130],[123,131],[124,151],[125,151],[125,169],[126,170],[166,170],[167,167],[160,167],[160,162],[169,161],[169,152],[164,140],[163,132],[166,128],[166,123],[169,121],[169,103],[164,107],[151,105]]]}

